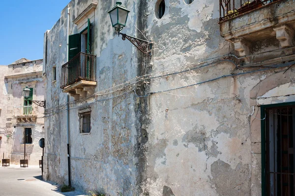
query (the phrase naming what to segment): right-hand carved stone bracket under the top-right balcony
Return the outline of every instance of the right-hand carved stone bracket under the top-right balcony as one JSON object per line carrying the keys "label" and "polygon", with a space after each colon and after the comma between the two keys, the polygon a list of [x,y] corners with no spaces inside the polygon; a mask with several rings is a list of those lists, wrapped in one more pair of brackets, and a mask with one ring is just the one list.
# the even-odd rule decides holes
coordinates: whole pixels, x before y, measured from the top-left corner
{"label": "right-hand carved stone bracket under the top-right balcony", "polygon": [[[276,32],[276,39],[280,42],[280,49],[293,46],[294,31],[287,25],[273,28]],[[292,49],[285,50],[286,55],[293,54]]]}

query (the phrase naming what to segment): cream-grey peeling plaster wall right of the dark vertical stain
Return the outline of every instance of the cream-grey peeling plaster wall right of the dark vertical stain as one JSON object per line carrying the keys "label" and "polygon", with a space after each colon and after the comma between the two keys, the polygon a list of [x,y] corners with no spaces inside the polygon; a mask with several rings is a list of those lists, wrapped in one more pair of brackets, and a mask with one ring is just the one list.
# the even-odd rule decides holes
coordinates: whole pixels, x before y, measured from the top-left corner
{"label": "cream-grey peeling plaster wall right of the dark vertical stain", "polygon": [[[183,0],[165,0],[162,19],[155,17],[155,2],[148,1],[146,28],[148,39],[155,42],[151,73],[194,68],[204,59],[234,52],[232,45],[220,36],[218,1],[185,4]],[[253,51],[278,49],[278,43],[270,40],[267,47]],[[280,79],[292,82],[295,76],[294,69],[283,73],[285,70],[224,77],[149,96],[147,183],[143,190],[150,196],[261,195],[261,140],[257,135],[260,121],[250,123],[254,101],[250,91],[267,80],[260,88],[266,89],[271,82],[274,89],[255,98],[255,105],[294,101],[293,86],[287,82],[280,86]],[[150,92],[234,73],[240,71],[235,70],[233,63],[217,63],[151,79]]]}

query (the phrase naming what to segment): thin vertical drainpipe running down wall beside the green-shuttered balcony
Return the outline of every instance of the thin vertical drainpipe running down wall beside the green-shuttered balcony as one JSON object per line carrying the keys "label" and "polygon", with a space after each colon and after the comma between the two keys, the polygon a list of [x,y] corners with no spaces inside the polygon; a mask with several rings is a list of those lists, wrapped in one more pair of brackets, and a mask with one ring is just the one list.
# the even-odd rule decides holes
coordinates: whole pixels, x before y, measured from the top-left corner
{"label": "thin vertical drainpipe running down wall beside the green-shuttered balcony", "polygon": [[[66,33],[66,60],[69,61],[69,34],[70,34],[70,8],[68,7],[67,16],[67,33]],[[70,160],[70,110],[69,110],[70,95],[66,97],[66,129],[67,129],[67,157],[68,157],[68,177],[69,186],[71,186],[71,160]]]}

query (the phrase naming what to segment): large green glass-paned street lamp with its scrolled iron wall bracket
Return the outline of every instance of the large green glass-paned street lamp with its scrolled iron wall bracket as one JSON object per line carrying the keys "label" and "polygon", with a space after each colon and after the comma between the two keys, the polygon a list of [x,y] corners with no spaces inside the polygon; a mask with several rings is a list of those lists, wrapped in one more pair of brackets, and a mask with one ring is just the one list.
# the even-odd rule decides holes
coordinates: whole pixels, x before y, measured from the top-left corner
{"label": "large green glass-paned street lamp with its scrolled iron wall bracket", "polygon": [[118,35],[122,35],[122,40],[129,40],[137,49],[139,49],[144,54],[148,55],[151,58],[151,47],[152,44],[148,41],[120,33],[120,31],[126,26],[128,13],[130,11],[122,5],[121,1],[116,2],[114,6],[108,13],[110,14],[112,26],[115,27],[115,30],[118,31]]}

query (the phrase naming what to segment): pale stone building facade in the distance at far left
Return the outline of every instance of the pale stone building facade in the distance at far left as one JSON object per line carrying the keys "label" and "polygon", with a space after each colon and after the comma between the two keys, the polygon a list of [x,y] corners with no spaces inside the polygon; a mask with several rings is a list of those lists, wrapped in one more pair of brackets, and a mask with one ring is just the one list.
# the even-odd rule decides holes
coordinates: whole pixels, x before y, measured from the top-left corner
{"label": "pale stone building facade in the distance at far left", "polygon": [[[0,68],[1,158],[4,152],[10,164],[20,164],[26,141],[26,159],[29,165],[38,165],[42,156],[38,142],[44,137],[44,109],[30,100],[44,100],[43,60],[22,58]],[[32,90],[29,100],[23,96],[26,86]]]}

